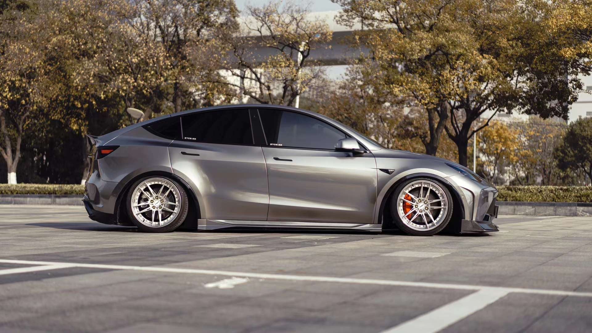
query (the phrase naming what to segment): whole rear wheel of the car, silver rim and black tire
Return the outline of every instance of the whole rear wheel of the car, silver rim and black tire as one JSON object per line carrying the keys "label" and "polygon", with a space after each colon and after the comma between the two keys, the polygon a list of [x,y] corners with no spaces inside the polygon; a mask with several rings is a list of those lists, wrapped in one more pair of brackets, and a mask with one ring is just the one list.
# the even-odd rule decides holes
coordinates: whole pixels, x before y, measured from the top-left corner
{"label": "whole rear wheel of the car, silver rim and black tire", "polygon": [[127,212],[144,232],[169,232],[178,228],[188,212],[184,188],[166,177],[146,177],[131,185]]}

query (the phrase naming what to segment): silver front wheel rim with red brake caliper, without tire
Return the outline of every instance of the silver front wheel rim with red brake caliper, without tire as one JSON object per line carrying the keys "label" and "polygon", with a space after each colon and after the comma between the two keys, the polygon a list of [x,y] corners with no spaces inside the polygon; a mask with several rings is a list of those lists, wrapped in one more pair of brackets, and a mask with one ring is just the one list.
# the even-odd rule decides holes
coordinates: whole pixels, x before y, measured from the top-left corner
{"label": "silver front wheel rim with red brake caliper, without tire", "polygon": [[[419,190],[419,193],[417,193]],[[411,194],[413,191],[416,195]],[[411,197],[407,200],[405,196]],[[430,200],[430,195],[435,199]],[[412,209],[404,212],[403,204],[409,203]],[[437,204],[438,206],[435,206]],[[403,188],[397,198],[397,212],[406,226],[418,231],[433,230],[442,224],[448,213],[449,200],[445,191],[433,181],[417,180],[410,182]],[[436,214],[436,216],[435,216]],[[411,215],[411,216],[410,216]]]}

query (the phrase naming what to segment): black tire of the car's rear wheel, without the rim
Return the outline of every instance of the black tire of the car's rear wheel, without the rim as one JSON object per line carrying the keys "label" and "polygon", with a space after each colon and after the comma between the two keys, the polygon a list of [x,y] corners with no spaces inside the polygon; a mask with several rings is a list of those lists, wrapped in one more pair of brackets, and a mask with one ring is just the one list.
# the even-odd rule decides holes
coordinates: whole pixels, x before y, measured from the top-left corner
{"label": "black tire of the car's rear wheel, without the rim", "polygon": [[[159,179],[159,178],[166,180],[166,181],[170,182],[170,184],[174,185],[176,191],[178,191],[178,196],[179,196],[179,198],[178,198],[179,203],[178,204],[180,207],[179,207],[179,211],[178,211],[176,217],[174,217],[166,225],[147,226],[147,225],[144,225],[142,222],[140,222],[138,217],[136,217],[134,215],[132,207],[131,207],[132,206],[132,197],[133,197],[134,191],[136,190],[136,188],[140,184],[142,184],[143,182],[146,182],[148,180],[151,180],[151,179]],[[187,213],[189,211],[188,197],[187,197],[187,193],[185,191],[185,188],[182,187],[181,184],[179,184],[175,180],[172,180],[169,177],[164,177],[164,176],[144,177],[144,178],[141,178],[140,180],[134,182],[134,184],[131,185],[130,190],[127,193],[126,206],[127,206],[127,213],[128,213],[128,216],[130,217],[131,222],[134,223],[134,225],[137,226],[138,229],[142,232],[171,232],[171,231],[179,228],[179,226],[181,226],[183,224],[183,222],[185,222],[185,218],[187,217]]]}

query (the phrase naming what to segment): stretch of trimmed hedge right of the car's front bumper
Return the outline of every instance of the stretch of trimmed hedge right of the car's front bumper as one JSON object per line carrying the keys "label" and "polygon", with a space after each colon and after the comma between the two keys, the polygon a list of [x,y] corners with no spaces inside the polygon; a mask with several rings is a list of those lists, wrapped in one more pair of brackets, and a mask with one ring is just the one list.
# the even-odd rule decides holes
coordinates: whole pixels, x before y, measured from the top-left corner
{"label": "stretch of trimmed hedge right of the car's front bumper", "polygon": [[592,202],[592,186],[498,186],[500,201]]}

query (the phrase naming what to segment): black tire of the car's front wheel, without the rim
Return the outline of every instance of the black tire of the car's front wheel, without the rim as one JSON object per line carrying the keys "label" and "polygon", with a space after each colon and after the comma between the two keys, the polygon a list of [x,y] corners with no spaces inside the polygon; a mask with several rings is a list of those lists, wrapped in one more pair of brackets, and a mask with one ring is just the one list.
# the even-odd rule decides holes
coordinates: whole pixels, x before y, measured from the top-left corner
{"label": "black tire of the car's front wheel, without the rim", "polygon": [[[398,210],[398,206],[397,206],[399,197],[401,196],[403,190],[408,185],[410,185],[411,183],[417,182],[417,181],[429,181],[429,182],[432,182],[433,184],[436,184],[442,190],[442,194],[446,197],[446,200],[447,200],[446,204],[448,205],[448,209],[446,210],[446,213],[443,213],[443,216],[441,217],[442,221],[439,222],[439,225],[437,225],[433,229],[429,229],[429,230],[413,229],[410,226],[408,226],[405,222],[403,222],[403,219],[401,219],[401,216],[399,216],[399,210]],[[426,178],[426,177],[412,178],[412,179],[404,181],[403,183],[398,185],[397,188],[395,188],[394,192],[392,193],[391,200],[390,200],[391,201],[390,202],[390,205],[391,205],[390,209],[391,209],[392,221],[394,222],[394,225],[398,229],[402,230],[403,232],[405,232],[409,235],[414,235],[414,236],[435,235],[436,233],[438,233],[438,232],[442,231],[444,228],[446,228],[446,225],[448,225],[448,223],[450,222],[451,217],[452,217],[453,200],[454,199],[453,199],[450,191],[448,191],[448,188],[446,188],[446,186],[443,185],[442,182],[434,180],[433,178]],[[406,213],[406,212],[404,212],[404,213]]]}

